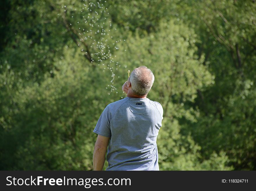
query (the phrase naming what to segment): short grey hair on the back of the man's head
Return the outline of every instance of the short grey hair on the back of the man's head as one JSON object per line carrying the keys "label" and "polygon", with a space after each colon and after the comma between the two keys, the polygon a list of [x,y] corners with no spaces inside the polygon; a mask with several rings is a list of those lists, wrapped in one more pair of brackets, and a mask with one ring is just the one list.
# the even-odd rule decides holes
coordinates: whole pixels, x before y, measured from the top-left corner
{"label": "short grey hair on the back of the man's head", "polygon": [[146,66],[140,66],[131,72],[131,90],[138,96],[147,95],[154,80],[153,72]]}

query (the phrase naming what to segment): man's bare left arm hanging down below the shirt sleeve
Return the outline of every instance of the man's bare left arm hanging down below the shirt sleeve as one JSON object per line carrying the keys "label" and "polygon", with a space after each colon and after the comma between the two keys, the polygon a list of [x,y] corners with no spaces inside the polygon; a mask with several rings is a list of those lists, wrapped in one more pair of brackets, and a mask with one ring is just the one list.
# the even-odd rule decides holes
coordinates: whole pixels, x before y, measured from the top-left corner
{"label": "man's bare left arm hanging down below the shirt sleeve", "polygon": [[102,170],[108,144],[109,137],[98,135],[93,151],[93,170]]}

